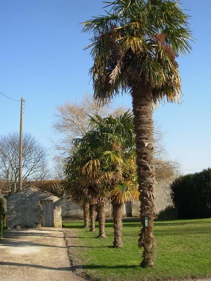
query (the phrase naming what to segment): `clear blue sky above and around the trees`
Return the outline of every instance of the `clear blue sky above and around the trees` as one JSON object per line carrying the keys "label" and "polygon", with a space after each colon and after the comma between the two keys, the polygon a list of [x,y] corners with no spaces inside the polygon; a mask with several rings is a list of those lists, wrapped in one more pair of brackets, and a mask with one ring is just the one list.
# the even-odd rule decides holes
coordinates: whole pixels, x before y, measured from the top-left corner
{"label": "clear blue sky above and around the trees", "polygon": [[[211,166],[211,1],[181,2],[195,39],[191,54],[178,60],[183,103],[161,105],[154,120],[165,133],[169,158],[187,173]],[[24,131],[44,146],[58,138],[52,129],[56,106],[92,93],[92,60],[83,50],[91,35],[79,23],[103,6],[100,0],[0,0],[0,92],[24,98]],[[131,107],[131,98],[115,103]],[[0,135],[18,131],[20,103],[0,95],[0,104]]]}

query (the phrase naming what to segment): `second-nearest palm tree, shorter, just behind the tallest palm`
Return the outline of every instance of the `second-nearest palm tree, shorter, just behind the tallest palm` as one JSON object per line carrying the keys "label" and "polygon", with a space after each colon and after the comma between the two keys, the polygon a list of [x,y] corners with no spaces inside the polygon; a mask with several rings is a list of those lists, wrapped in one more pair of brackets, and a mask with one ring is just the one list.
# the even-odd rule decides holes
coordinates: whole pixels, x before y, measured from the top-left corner
{"label": "second-nearest palm tree, shorter, just behind the tallest palm", "polygon": [[[95,180],[101,190],[110,191],[115,248],[122,247],[122,205],[130,197],[137,195],[135,173],[135,154],[133,116],[126,112],[116,118],[109,116],[92,117],[91,128],[80,143],[87,145],[87,150],[95,151],[84,165],[84,172],[90,180]],[[96,153],[97,152],[97,153]],[[102,187],[104,186],[104,187]],[[102,198],[102,196],[100,197]],[[104,225],[105,218],[99,216],[99,224]]]}

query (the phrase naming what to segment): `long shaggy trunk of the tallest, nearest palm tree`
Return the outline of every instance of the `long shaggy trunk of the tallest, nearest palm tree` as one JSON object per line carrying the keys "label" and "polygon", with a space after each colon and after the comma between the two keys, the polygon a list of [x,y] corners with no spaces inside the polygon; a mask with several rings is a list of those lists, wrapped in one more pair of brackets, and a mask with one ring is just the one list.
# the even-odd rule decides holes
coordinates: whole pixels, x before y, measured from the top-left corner
{"label": "long shaggy trunk of the tallest, nearest palm tree", "polygon": [[[136,163],[140,191],[140,214],[142,229],[138,245],[144,247],[141,267],[153,267],[155,256],[155,239],[153,221],[154,205],[154,167],[153,167],[153,108],[152,92],[149,85],[140,83],[132,89],[134,130],[136,134]],[[148,219],[148,226],[145,224]]]}

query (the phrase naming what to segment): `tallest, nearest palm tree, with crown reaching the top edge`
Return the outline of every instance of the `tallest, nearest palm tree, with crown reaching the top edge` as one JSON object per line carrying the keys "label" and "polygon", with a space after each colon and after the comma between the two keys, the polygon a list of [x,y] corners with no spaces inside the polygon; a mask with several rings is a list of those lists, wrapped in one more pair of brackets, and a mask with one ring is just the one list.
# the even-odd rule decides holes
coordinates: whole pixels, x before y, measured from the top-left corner
{"label": "tallest, nearest palm tree, with crown reaching the top edge", "polygon": [[[115,0],[106,15],[85,21],[93,32],[90,69],[94,97],[108,103],[118,94],[132,96],[136,163],[144,247],[142,267],[154,266],[153,106],[180,101],[181,79],[175,60],[189,52],[188,16],[176,0]],[[148,225],[145,225],[145,217]]]}

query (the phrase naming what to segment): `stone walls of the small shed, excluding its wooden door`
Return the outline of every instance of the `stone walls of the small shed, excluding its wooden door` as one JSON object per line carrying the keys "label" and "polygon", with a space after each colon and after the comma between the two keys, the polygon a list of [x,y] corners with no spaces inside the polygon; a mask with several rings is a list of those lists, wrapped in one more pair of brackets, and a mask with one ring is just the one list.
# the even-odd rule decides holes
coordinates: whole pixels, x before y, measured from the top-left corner
{"label": "stone walls of the small shed, excluding its wooden door", "polygon": [[7,228],[30,228],[41,226],[40,201],[53,200],[54,227],[61,227],[61,200],[33,187],[6,196]]}

